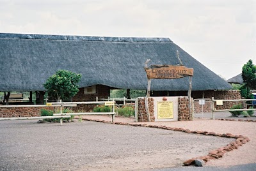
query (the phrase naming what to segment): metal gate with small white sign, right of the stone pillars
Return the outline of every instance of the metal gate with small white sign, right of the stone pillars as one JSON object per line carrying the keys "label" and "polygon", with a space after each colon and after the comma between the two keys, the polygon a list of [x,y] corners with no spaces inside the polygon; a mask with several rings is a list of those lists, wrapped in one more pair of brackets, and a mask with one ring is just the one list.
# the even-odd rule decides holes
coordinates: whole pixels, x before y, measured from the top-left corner
{"label": "metal gate with small white sign, right of the stone pillars", "polygon": [[211,118],[212,100],[201,98],[193,100],[193,117],[194,118]]}

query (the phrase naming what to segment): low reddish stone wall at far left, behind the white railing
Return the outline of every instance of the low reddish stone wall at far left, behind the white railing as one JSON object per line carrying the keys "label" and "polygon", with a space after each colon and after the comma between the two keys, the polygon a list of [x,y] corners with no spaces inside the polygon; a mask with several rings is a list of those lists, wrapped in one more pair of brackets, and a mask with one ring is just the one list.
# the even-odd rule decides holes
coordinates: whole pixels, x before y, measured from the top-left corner
{"label": "low reddish stone wall at far left, behind the white railing", "polygon": [[0,108],[0,117],[35,117],[40,116],[40,110],[53,110],[54,107],[12,107]]}

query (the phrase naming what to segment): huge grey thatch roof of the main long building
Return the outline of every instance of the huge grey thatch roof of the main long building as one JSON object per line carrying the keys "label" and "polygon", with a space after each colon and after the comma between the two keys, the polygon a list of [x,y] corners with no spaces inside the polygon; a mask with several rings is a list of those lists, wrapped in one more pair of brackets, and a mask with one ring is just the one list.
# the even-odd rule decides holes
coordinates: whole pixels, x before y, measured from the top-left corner
{"label": "huge grey thatch roof of the main long building", "polygon": [[[81,73],[80,87],[108,85],[147,89],[143,66],[179,63],[194,68],[192,89],[221,90],[230,85],[169,38],[117,38],[0,33],[0,91],[44,91],[58,70]],[[152,80],[154,91],[187,91],[188,77]]]}

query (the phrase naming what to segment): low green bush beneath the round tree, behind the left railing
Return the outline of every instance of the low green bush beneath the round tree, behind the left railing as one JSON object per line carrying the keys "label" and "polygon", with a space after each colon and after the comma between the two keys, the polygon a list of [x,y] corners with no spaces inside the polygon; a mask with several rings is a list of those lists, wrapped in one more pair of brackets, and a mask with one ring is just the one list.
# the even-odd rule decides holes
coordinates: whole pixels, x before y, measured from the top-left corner
{"label": "low green bush beneath the round tree, behind the left railing", "polygon": [[[63,113],[71,113],[72,110],[69,108],[64,108],[62,110]],[[41,116],[52,116],[53,115],[53,110],[46,110],[45,108],[42,108],[41,111]],[[60,113],[60,110],[56,110],[56,113]],[[43,119],[45,122],[51,122],[51,123],[60,123],[61,118],[55,118],[55,119]],[[63,121],[72,121],[74,119],[74,115],[71,115],[71,117],[63,118]]]}

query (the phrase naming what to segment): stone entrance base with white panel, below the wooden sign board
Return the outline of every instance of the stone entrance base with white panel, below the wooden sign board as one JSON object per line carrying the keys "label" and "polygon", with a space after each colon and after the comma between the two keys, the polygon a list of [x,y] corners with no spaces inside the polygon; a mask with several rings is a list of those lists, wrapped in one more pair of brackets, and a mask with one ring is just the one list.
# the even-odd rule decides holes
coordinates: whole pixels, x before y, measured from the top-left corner
{"label": "stone entrance base with white panel, below the wooden sign board", "polygon": [[[172,111],[170,115],[164,115],[163,107],[159,104],[162,102],[170,102]],[[189,121],[191,120],[189,114],[189,100],[186,96],[179,97],[150,97],[148,98],[148,111],[150,112],[150,121]],[[169,110],[167,108],[167,110]],[[145,98],[138,98],[138,121],[147,122],[148,115],[145,108]]]}

